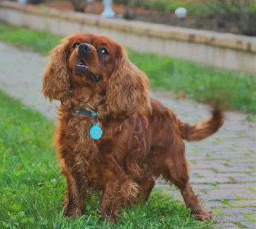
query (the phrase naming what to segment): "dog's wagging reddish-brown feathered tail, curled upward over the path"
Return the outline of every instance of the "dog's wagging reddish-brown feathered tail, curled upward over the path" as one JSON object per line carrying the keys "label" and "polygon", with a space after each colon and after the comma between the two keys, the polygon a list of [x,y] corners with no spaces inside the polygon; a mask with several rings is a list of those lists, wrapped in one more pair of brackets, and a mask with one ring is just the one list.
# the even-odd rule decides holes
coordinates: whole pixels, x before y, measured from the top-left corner
{"label": "dog's wagging reddish-brown feathered tail, curled upward over the path", "polygon": [[212,117],[196,123],[196,125],[189,125],[188,123],[179,122],[179,129],[183,139],[187,141],[201,141],[215,132],[217,132],[224,122],[224,114],[220,108],[214,107],[212,109]]}

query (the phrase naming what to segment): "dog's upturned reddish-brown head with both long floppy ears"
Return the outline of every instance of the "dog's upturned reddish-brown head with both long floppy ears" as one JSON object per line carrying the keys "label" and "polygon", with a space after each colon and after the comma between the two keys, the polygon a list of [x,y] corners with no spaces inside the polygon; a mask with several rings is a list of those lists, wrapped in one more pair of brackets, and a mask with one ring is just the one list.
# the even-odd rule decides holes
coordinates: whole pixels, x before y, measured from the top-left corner
{"label": "dog's upturned reddish-brown head with both long floppy ears", "polygon": [[106,110],[117,117],[150,107],[148,85],[147,75],[129,61],[121,45],[106,36],[75,34],[52,50],[42,92],[62,101],[76,88],[86,88],[90,95],[104,97]]}

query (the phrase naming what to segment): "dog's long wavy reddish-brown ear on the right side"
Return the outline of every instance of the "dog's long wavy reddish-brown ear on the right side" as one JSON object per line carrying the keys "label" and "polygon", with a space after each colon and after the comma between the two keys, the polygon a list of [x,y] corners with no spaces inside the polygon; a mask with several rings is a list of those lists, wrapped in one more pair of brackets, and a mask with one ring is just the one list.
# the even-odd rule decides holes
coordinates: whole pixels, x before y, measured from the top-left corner
{"label": "dog's long wavy reddish-brown ear on the right side", "polygon": [[106,109],[114,117],[143,113],[150,109],[147,75],[141,72],[120,47],[116,66],[106,89]]}

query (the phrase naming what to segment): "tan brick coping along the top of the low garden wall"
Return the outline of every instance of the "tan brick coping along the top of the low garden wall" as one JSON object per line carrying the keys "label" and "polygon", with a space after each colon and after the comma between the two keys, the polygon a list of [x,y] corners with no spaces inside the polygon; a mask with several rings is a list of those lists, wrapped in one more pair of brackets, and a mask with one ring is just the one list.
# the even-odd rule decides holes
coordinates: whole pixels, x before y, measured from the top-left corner
{"label": "tan brick coping along the top of the low garden wall", "polygon": [[54,8],[33,6],[30,4],[20,4],[8,1],[0,2],[1,8],[11,8],[35,15],[49,15],[63,20],[88,24],[100,28],[115,29],[136,35],[146,35],[148,37],[182,40],[186,42],[202,43],[226,49],[236,49],[243,52],[256,53],[256,38],[243,35],[233,35],[230,33],[217,33],[198,29],[179,28],[166,26],[163,24],[153,24],[149,22],[127,21],[123,19],[103,19],[99,15],[92,15],[77,12],[61,12]]}

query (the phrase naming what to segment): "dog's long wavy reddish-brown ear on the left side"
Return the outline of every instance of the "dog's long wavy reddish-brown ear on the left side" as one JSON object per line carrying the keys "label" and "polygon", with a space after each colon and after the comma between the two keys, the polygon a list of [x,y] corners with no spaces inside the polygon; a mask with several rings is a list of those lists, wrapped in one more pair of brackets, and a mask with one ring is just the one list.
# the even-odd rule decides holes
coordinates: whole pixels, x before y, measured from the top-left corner
{"label": "dog's long wavy reddish-brown ear on the left side", "polygon": [[63,100],[70,91],[70,79],[67,69],[68,41],[63,40],[61,45],[52,49],[51,61],[43,76],[45,97],[49,100]]}

